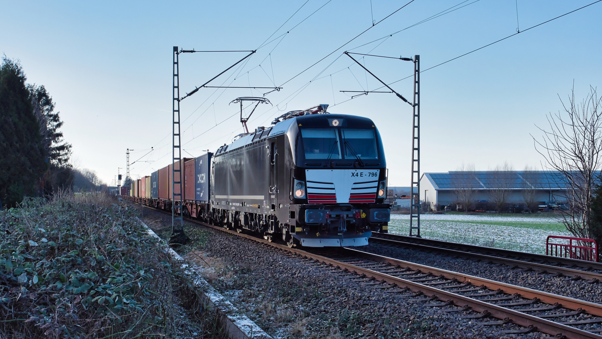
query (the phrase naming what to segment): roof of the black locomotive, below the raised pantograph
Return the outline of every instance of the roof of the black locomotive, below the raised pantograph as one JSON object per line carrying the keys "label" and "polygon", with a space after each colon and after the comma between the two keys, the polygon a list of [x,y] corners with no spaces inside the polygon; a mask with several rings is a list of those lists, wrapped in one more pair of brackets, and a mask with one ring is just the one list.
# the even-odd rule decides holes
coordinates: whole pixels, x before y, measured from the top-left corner
{"label": "roof of the black locomotive, below the raised pantograph", "polygon": [[368,119],[367,117],[350,116],[348,114],[308,114],[306,116],[292,117],[290,119],[278,122],[272,127],[257,128],[255,132],[249,133],[238,138],[237,140],[234,140],[234,142],[232,142],[230,145],[224,145],[220,147],[217,149],[214,156],[224,152],[233,151],[234,149],[238,149],[255,142],[259,142],[259,140],[263,140],[267,137],[273,137],[274,135],[286,133],[290,131],[291,128],[297,128],[297,126],[329,128],[332,127],[329,123],[329,120],[332,119],[345,119],[347,128],[374,127],[372,120]]}

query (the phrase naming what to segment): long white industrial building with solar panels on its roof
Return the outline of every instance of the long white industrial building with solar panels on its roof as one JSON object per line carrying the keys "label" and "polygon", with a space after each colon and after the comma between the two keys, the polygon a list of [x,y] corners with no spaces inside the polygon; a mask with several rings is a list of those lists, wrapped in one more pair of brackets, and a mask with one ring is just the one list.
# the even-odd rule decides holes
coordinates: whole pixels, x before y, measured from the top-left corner
{"label": "long white industrial building with solar panels on its roof", "polygon": [[[524,206],[524,191],[530,190],[540,207],[561,207],[566,202],[566,177],[553,171],[450,171],[424,173],[420,178],[420,200],[427,201],[433,210],[452,207],[461,199],[461,190],[473,190],[473,209],[491,209],[492,196],[507,191],[507,204]],[[462,194],[462,193],[460,193]],[[464,208],[464,207],[459,207]]]}

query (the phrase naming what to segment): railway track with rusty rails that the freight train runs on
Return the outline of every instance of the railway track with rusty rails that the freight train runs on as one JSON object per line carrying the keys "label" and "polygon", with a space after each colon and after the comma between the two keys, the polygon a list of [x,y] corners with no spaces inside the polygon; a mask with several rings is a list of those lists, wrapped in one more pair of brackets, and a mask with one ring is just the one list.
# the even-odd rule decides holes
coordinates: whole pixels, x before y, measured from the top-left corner
{"label": "railway track with rusty rails that the freight train runs on", "polygon": [[471,313],[461,317],[471,319],[479,325],[502,326],[514,323],[523,326],[500,331],[500,334],[526,334],[539,331],[560,338],[602,338],[600,335],[602,327],[599,326],[602,323],[602,305],[597,303],[356,249],[290,248],[285,244],[270,242],[246,232],[232,231],[194,219],[188,220],[230,235],[256,241],[267,248],[290,253],[288,255],[347,276],[359,284],[382,288],[387,293],[407,296],[413,302],[423,303],[424,307],[436,307],[444,312]]}

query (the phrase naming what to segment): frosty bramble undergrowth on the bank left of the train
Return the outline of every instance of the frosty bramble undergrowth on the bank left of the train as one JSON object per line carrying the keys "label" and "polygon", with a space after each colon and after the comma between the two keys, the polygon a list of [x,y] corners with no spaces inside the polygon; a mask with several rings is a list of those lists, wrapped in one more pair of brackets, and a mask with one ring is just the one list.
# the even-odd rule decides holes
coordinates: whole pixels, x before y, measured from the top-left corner
{"label": "frosty bramble undergrowth on the bank left of the train", "polygon": [[211,317],[182,330],[181,305],[200,314],[196,294],[166,245],[105,194],[25,199],[0,213],[0,238],[0,337],[219,332]]}

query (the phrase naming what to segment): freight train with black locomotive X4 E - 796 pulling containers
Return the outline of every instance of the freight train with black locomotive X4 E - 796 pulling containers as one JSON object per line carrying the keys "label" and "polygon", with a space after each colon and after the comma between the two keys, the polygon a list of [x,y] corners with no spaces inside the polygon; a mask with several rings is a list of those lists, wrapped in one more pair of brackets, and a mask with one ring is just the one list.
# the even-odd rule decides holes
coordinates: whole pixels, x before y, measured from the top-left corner
{"label": "freight train with black locomotive X4 E - 796 pulling containers", "polygon": [[382,140],[372,120],[326,107],[290,111],[182,159],[182,205],[172,201],[172,164],[134,181],[126,199],[291,247],[366,245],[389,222]]}

